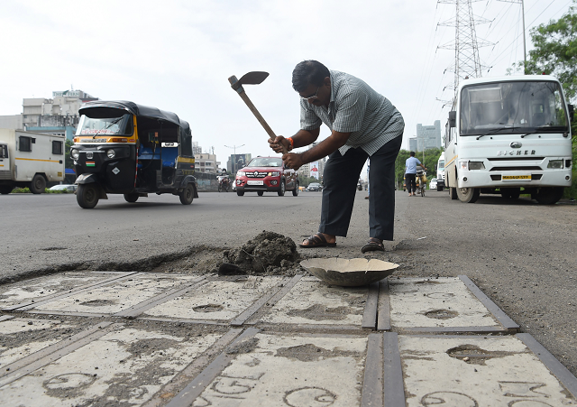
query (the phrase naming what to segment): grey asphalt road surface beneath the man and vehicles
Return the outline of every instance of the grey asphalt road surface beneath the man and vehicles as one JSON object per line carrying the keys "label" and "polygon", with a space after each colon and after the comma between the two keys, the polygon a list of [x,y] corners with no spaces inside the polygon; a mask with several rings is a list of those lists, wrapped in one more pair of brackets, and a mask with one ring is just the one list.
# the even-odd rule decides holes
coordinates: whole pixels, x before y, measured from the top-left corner
{"label": "grey asphalt road surface beneath the man and vehicles", "polygon": [[[361,256],[368,200],[357,192],[349,236],[306,256]],[[237,247],[262,230],[299,242],[316,231],[321,194],[293,197],[201,193],[184,206],[175,196],[129,204],[111,195],[94,209],[74,195],[2,195],[0,281],[71,269],[138,267],[195,247]],[[380,258],[394,275],[456,276],[475,282],[523,332],[533,335],[577,375],[577,206],[539,206],[528,199],[483,196],[475,204],[426,191],[397,192],[395,241]]]}

